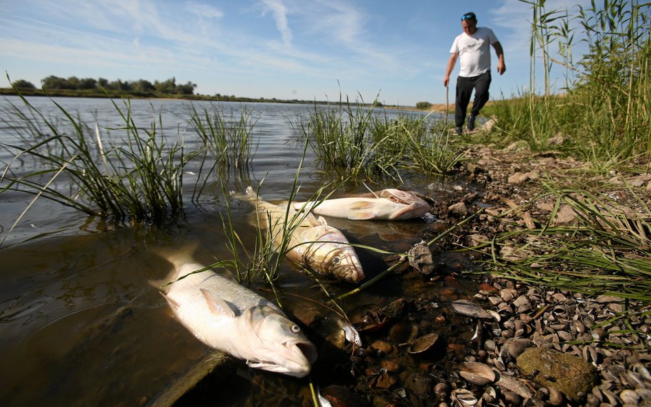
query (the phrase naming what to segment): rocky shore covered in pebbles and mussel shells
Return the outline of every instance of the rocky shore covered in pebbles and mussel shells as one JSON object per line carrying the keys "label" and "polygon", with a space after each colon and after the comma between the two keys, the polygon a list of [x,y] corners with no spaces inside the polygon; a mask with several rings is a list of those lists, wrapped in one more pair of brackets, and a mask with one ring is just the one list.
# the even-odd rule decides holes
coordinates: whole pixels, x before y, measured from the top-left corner
{"label": "rocky shore covered in pebbles and mussel shells", "polygon": [[[446,191],[431,186],[439,197],[437,218],[453,222],[483,208],[450,236],[447,248],[481,247],[497,233],[533,229],[535,222],[575,222],[578,214],[555,207],[553,197],[531,200],[540,178],[562,181],[582,163],[532,156],[518,145],[467,154],[461,168],[467,184]],[[632,212],[651,205],[650,174],[582,176],[608,185],[608,194]],[[415,270],[422,262],[403,270],[404,298],[362,312],[365,323],[370,318],[371,326],[382,327],[363,325],[368,342],[354,350],[354,378],[322,388],[332,406],[651,406],[649,303],[490,273],[475,296],[460,299],[455,285],[467,265],[445,266],[442,251],[434,248],[429,270]],[[527,251],[505,244],[499,256],[517,260]],[[362,327],[356,310],[352,315]]]}

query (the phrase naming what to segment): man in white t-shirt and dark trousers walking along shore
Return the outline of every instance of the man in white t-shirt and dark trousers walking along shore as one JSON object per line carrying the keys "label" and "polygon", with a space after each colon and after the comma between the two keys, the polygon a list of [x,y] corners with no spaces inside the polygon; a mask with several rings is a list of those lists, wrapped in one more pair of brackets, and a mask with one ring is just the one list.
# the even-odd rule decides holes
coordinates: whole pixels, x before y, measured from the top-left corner
{"label": "man in white t-shirt and dark trousers walking along shore", "polygon": [[472,89],[475,89],[475,100],[472,102],[472,110],[470,111],[470,117],[468,117],[466,130],[475,130],[475,119],[477,119],[483,105],[488,102],[488,88],[490,86],[489,44],[493,46],[499,58],[497,71],[500,75],[506,71],[504,51],[493,30],[488,27],[477,27],[477,16],[473,12],[461,16],[461,27],[463,27],[464,32],[455,38],[455,42],[450,48],[450,60],[448,60],[448,69],[446,69],[443,80],[444,86],[448,87],[450,73],[452,73],[457,63],[457,58],[461,56],[455,103],[457,135],[463,132]]}

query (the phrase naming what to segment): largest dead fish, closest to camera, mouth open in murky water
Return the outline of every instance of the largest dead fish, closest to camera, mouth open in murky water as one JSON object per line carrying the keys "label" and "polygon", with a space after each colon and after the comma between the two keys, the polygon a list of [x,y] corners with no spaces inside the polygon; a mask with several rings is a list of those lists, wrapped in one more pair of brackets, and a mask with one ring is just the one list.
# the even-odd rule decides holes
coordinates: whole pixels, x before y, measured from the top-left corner
{"label": "largest dead fish, closest to camera, mouth open in murky water", "polygon": [[[165,255],[174,271],[161,294],[198,340],[249,367],[295,377],[310,373],[317,349],[298,325],[264,297],[196,263],[191,253]],[[160,286],[159,286],[160,287]]]}

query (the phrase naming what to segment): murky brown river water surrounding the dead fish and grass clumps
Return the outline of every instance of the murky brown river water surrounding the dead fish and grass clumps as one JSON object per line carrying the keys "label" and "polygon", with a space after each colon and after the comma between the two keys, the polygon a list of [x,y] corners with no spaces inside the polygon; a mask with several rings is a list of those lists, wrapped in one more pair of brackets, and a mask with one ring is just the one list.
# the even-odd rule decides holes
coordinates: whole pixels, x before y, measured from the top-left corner
{"label": "murky brown river water surrounding the dead fish and grass clumps", "polygon": [[[93,126],[95,120],[102,128],[119,124],[115,108],[106,100],[59,99],[56,102]],[[5,98],[0,103],[20,106],[21,102]],[[62,119],[52,101],[31,98],[30,103],[45,117]],[[201,108],[201,104],[195,106]],[[238,109],[242,106],[225,106],[239,117]],[[260,137],[250,172],[251,183],[257,185],[264,178],[261,189],[264,198],[282,200],[288,194],[302,154],[301,146],[292,142],[294,136],[286,117],[306,114],[313,107],[253,104],[247,108],[258,119],[254,132]],[[162,119],[161,131],[167,137],[182,133],[188,148],[195,143],[185,128],[187,102],[133,101],[131,111],[142,126],[148,127],[152,120]],[[2,114],[5,120],[0,124],[0,141],[20,143],[16,123],[9,126],[11,116],[6,110]],[[105,137],[119,138],[115,130],[102,131]],[[0,150],[3,167],[10,157],[6,150]],[[311,165],[313,158],[306,157],[301,171],[299,198],[307,198],[323,183]],[[30,163],[17,168],[18,172],[34,169]],[[185,183],[193,182],[191,170]],[[427,183],[428,180],[413,181],[411,187],[424,191]],[[376,188],[394,186],[387,183]],[[7,236],[0,247],[0,351],[3,354],[0,399],[3,406],[165,406],[183,393],[186,383],[196,382],[223,361],[220,353],[207,349],[172,318],[165,301],[150,285],[150,281],[161,279],[170,271],[170,264],[161,257],[165,248],[198,242],[196,259],[204,264],[230,257],[220,218],[225,198],[214,188],[212,195],[203,196],[200,205],[193,205],[191,193],[186,192],[186,218],[157,228],[115,228],[62,205],[38,200],[8,236],[32,196],[16,193],[0,196],[0,239]],[[234,225],[236,230],[244,242],[252,242],[254,231],[247,223],[249,208],[234,205],[232,210],[238,222]],[[422,238],[442,229],[436,222],[423,220],[394,223],[330,220],[330,224],[339,227],[354,243],[393,253],[404,253]],[[30,237],[37,238],[28,240]],[[358,252],[367,278],[390,264],[391,256]],[[442,253],[437,261],[450,270],[462,270],[468,259]],[[312,373],[315,385],[354,384],[366,377],[365,369],[376,369],[369,365],[372,362],[358,360],[350,344],[343,344],[343,349],[332,347],[340,330],[339,317],[321,305],[327,303],[327,297],[310,277],[288,263],[284,264],[277,283],[282,288],[283,306],[304,323],[308,337],[321,351]],[[323,284],[335,295],[354,288],[336,281],[325,280]],[[264,285],[254,284],[251,288],[273,298]],[[350,311],[366,304],[386,305],[406,296],[410,312],[421,312],[418,317],[423,325],[421,333],[437,331],[445,334],[450,342],[455,342],[455,338],[464,342],[472,331],[470,327],[452,333],[449,324],[437,325],[432,321],[444,314],[446,303],[475,289],[472,281],[451,277],[429,281],[402,270],[341,301],[341,306]],[[422,318],[422,312],[431,318]],[[364,333],[363,340],[387,338],[386,329]],[[332,349],[336,351],[333,353]],[[242,362],[225,360],[222,367],[207,375],[176,405],[309,405],[308,378],[297,380],[252,371]]]}

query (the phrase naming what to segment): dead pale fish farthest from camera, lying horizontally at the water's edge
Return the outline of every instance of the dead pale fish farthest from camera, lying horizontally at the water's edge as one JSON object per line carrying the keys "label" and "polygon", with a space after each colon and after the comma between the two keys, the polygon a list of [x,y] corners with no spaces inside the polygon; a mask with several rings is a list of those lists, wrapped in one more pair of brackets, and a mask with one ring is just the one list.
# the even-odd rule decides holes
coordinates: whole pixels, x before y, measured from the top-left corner
{"label": "dead pale fish farthest from camera, lying horizontally at the water's edge", "polygon": [[382,189],[372,195],[326,199],[321,202],[294,202],[293,208],[351,220],[406,220],[420,218],[431,209],[418,196],[400,189]]}

